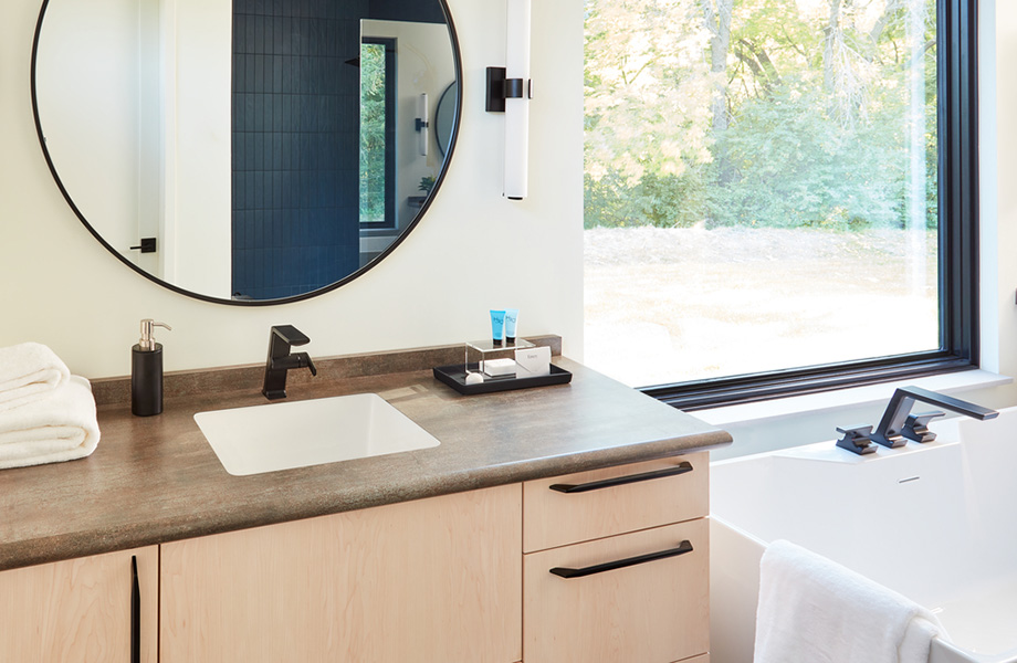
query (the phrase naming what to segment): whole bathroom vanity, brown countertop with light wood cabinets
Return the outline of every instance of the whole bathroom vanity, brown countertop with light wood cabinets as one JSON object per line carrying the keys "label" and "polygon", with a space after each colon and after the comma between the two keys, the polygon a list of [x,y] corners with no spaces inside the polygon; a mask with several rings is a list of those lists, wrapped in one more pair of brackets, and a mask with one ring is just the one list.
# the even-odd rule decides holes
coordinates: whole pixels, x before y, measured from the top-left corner
{"label": "whole bathroom vanity, brown countertop with light wood cabinets", "polygon": [[157,418],[102,406],[91,457],[0,474],[0,660],[709,661],[730,436],[555,364],[569,385],[462,397],[319,362],[291,400],[375,392],[440,445],[251,476],[193,414],[256,390],[206,371]]}

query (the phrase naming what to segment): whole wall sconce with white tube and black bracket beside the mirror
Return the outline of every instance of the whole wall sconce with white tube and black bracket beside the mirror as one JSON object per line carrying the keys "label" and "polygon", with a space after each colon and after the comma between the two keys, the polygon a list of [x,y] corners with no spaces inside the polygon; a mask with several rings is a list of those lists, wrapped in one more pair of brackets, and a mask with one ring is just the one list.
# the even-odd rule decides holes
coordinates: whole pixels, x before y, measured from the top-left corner
{"label": "whole wall sconce with white tube and black bracket beside the mirror", "polygon": [[505,197],[522,200],[530,179],[531,0],[507,0],[505,66],[487,67],[489,113],[505,114]]}

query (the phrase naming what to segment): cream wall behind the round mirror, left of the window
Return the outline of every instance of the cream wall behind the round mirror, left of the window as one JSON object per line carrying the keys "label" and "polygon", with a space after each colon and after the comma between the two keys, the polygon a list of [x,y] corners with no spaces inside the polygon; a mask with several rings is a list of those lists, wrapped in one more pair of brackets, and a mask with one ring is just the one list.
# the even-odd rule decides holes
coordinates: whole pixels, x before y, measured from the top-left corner
{"label": "cream wall behind the round mirror, left of the window", "polygon": [[[65,0],[52,0],[60,2]],[[583,2],[534,3],[530,198],[502,198],[504,118],[484,112],[484,67],[504,63],[504,3],[450,0],[464,67],[463,124],[428,215],[380,265],[307,302],[271,307],[177,295],[108,255],[67,208],[32,119],[40,0],[0,8],[0,346],[50,345],[90,378],[129,372],[138,320],[162,333],[167,370],[258,362],[269,327],[293,324],[317,356],[458,343],[487,309],[521,309],[521,334],[556,333],[581,356]],[[500,259],[492,259],[492,255]]]}

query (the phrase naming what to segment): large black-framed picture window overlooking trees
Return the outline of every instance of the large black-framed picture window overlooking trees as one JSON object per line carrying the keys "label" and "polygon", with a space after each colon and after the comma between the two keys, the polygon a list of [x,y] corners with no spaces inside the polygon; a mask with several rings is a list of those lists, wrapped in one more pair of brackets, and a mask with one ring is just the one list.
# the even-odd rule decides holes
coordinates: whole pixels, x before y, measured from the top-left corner
{"label": "large black-framed picture window overlooking trees", "polygon": [[973,8],[587,0],[586,362],[696,408],[975,361]]}

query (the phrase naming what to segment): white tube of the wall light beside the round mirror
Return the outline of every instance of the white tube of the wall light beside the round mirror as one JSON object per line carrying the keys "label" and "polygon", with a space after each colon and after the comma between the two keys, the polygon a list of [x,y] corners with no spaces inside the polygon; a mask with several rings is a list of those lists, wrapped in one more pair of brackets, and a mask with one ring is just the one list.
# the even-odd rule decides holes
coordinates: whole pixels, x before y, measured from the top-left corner
{"label": "white tube of the wall light beside the round mirror", "polygon": [[530,179],[531,0],[507,0],[505,78],[523,82],[523,96],[505,99],[505,197],[526,198]]}

